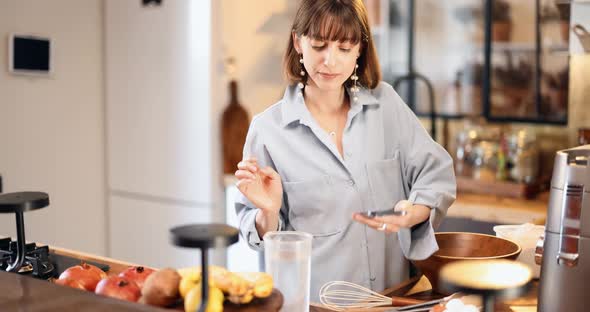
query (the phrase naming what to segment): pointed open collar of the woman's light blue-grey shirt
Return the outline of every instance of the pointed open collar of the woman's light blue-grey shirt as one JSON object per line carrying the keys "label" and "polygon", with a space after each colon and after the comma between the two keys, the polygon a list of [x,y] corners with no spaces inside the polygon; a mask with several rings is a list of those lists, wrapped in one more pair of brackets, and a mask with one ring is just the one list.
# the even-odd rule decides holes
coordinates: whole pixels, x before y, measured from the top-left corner
{"label": "pointed open collar of the woman's light blue-grey shirt", "polygon": [[[365,87],[360,87],[359,92],[356,95],[357,101],[353,102],[350,110],[353,112],[358,112],[362,109],[365,105],[378,105],[379,101],[377,98],[372,94],[371,90],[368,90]],[[350,94],[349,88],[346,88],[348,95],[352,98]],[[309,124],[308,120],[311,119],[311,114],[307,107],[305,106],[305,102],[303,96],[299,92],[299,88],[297,85],[290,85],[285,90],[285,95],[283,96],[283,105],[281,105],[282,110],[282,123],[283,127],[287,126],[288,124],[299,121],[303,124]]]}

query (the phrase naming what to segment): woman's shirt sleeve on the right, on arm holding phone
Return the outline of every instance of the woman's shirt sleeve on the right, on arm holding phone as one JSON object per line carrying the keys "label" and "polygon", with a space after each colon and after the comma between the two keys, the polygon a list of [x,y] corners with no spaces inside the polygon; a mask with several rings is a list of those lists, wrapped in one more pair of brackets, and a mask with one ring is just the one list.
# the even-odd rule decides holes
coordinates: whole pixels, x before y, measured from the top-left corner
{"label": "woman's shirt sleeve on the right, on arm holding phone", "polygon": [[438,250],[434,229],[455,201],[457,184],[453,159],[432,140],[406,105],[402,105],[396,119],[398,125],[407,130],[407,135],[401,137],[400,151],[408,200],[431,208],[427,221],[400,231],[400,244],[406,258],[422,260]]}

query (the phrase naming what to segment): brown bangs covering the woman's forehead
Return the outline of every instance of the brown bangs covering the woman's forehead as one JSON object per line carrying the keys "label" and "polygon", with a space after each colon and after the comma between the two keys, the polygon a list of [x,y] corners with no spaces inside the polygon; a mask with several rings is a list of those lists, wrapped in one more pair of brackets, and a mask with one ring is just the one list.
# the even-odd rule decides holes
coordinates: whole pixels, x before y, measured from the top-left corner
{"label": "brown bangs covering the woman's forehead", "polygon": [[354,12],[330,5],[310,16],[304,35],[320,41],[339,41],[357,44],[363,38],[362,24]]}

